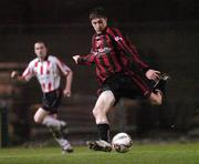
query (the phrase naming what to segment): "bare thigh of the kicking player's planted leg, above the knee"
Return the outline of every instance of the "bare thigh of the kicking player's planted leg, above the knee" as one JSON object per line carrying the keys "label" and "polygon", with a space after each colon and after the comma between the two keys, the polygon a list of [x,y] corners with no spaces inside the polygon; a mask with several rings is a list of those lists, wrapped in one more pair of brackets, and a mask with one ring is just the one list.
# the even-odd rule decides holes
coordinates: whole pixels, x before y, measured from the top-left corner
{"label": "bare thigh of the kicking player's planted leg, above the knee", "polygon": [[115,103],[115,96],[111,90],[104,91],[98,96],[94,110],[107,112]]}

